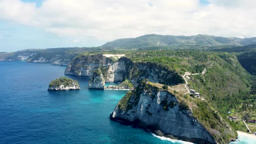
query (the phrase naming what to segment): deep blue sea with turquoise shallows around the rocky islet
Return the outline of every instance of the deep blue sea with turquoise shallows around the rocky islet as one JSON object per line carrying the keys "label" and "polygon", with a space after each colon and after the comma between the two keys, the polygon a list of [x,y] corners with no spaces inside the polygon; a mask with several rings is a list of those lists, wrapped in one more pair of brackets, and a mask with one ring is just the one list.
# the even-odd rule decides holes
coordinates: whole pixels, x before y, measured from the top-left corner
{"label": "deep blue sea with turquoise shallows around the rocky islet", "polygon": [[[0,144],[184,144],[109,119],[124,90],[47,91],[65,66],[0,62]],[[107,83],[115,85],[116,83]],[[241,143],[247,144],[247,143]],[[248,143],[249,144],[249,143]]]}

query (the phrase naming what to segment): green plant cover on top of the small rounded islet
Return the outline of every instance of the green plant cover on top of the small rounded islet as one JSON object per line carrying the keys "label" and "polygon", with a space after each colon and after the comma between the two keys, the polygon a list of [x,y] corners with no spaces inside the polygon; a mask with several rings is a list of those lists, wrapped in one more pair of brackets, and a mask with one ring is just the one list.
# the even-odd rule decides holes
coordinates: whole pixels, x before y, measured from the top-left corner
{"label": "green plant cover on top of the small rounded islet", "polygon": [[66,86],[73,86],[74,83],[77,86],[79,86],[79,83],[76,80],[72,80],[72,79],[69,79],[67,77],[60,77],[60,78],[55,79],[52,82],[50,82],[49,87],[50,88],[59,87],[60,85],[64,85],[65,87]]}

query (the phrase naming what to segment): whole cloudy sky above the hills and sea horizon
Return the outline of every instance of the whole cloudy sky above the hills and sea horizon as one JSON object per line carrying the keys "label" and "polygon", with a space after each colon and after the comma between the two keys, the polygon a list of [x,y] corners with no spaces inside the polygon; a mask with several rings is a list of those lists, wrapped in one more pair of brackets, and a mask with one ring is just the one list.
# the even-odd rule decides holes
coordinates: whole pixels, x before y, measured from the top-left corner
{"label": "whole cloudy sky above the hills and sea horizon", "polygon": [[145,34],[256,36],[256,0],[0,0],[0,52]]}

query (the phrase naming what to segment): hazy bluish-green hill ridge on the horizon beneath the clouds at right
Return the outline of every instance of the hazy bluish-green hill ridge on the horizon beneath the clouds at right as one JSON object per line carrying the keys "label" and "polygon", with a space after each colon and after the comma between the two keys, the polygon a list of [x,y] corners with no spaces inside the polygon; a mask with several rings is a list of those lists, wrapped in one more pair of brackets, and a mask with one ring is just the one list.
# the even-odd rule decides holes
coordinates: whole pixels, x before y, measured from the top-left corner
{"label": "hazy bluish-green hill ridge on the horizon beneath the clouds at right", "polygon": [[137,38],[117,39],[112,42],[105,43],[101,47],[113,47],[119,49],[140,49],[145,47],[174,47],[191,48],[191,46],[243,46],[256,44],[256,37],[253,38],[237,38],[237,37],[221,37],[210,35],[196,36],[169,36],[149,34],[139,36]]}

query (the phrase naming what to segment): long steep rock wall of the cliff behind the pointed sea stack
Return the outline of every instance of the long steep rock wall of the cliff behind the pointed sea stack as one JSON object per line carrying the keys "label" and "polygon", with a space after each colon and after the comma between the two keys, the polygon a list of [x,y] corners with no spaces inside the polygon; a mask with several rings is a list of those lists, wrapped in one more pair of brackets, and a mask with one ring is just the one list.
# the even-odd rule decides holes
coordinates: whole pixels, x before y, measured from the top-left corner
{"label": "long steep rock wall of the cliff behind the pointed sea stack", "polygon": [[126,57],[114,61],[102,54],[76,56],[67,66],[65,74],[92,76],[98,68],[101,69],[105,82],[123,82],[128,79],[132,84],[138,85],[141,79],[146,78],[151,82],[169,85],[184,83],[181,75],[163,65],[151,62],[135,63]]}

